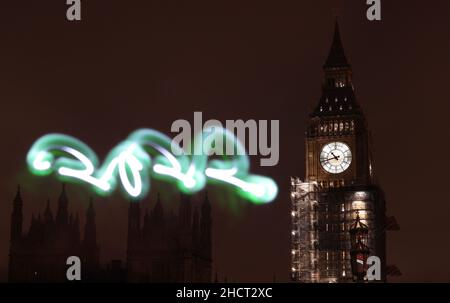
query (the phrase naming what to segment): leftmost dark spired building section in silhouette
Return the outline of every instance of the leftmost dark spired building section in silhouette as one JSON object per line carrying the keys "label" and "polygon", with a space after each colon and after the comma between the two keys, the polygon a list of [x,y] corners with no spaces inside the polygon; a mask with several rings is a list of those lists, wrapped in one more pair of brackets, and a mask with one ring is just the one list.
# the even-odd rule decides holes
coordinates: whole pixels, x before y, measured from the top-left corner
{"label": "leftmost dark spired building section in silhouette", "polygon": [[96,280],[99,253],[92,201],[86,214],[83,240],[80,240],[78,215],[69,214],[68,204],[63,186],[56,216],[53,217],[48,201],[44,215],[33,215],[29,231],[23,233],[23,201],[20,188],[17,190],[11,215],[10,282],[64,282],[70,256],[80,257],[83,280]]}

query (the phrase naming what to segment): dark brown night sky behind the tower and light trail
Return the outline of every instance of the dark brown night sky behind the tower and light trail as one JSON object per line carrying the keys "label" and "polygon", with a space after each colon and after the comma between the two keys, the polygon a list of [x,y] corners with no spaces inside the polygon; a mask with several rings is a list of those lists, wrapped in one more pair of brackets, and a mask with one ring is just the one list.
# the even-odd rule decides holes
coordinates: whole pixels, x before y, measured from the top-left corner
{"label": "dark brown night sky behind the tower and light trail", "polygon": [[[57,182],[26,171],[36,138],[64,132],[104,156],[138,127],[168,133],[202,111],[280,120],[279,165],[253,169],[276,179],[279,198],[237,210],[213,201],[214,260],[230,279],[287,281],[289,176],[304,174],[306,116],[337,11],[388,213],[402,228],[388,237],[389,263],[404,274],[395,281],[450,282],[448,1],[382,0],[379,23],[365,19],[363,0],[82,2],[80,23],[65,20],[64,0],[0,4],[0,280],[16,184],[27,223],[59,194]],[[80,188],[69,187],[79,212]],[[97,201],[103,260],[125,257],[127,206]]]}

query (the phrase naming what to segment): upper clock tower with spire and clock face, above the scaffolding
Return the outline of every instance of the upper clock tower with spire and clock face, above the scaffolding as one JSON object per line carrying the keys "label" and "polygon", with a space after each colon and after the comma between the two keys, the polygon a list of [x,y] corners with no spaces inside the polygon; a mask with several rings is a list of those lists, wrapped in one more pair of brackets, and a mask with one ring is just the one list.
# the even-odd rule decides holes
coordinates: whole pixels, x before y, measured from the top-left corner
{"label": "upper clock tower with spire and clock face, above the scaffolding", "polygon": [[306,130],[306,181],[320,188],[372,183],[369,134],[336,23],[322,96]]}

